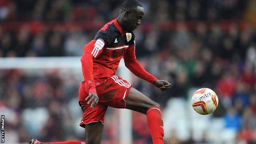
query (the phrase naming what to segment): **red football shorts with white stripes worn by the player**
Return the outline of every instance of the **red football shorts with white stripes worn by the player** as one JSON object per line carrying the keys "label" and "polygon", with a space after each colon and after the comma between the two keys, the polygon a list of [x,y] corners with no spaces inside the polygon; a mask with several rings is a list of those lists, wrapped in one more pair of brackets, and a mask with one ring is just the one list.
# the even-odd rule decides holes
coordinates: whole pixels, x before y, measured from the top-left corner
{"label": "red football shorts with white stripes worn by the player", "polygon": [[82,82],[79,88],[79,105],[83,111],[80,126],[83,128],[85,124],[97,121],[104,124],[107,106],[125,108],[126,98],[131,88],[129,82],[116,75],[110,78],[94,79],[94,81],[99,98],[98,104],[94,108],[91,107],[91,103],[87,104],[88,101],[85,100],[89,95],[87,82]]}

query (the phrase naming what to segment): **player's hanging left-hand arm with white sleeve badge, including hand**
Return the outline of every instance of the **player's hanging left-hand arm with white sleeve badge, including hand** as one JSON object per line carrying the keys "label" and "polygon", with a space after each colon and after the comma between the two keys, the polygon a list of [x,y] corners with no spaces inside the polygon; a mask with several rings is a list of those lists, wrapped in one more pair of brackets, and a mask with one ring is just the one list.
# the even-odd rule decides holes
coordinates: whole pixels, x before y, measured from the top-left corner
{"label": "player's hanging left-hand arm with white sleeve badge, including hand", "polygon": [[84,54],[81,57],[82,63],[82,74],[84,76],[84,81],[87,83],[86,88],[89,91],[89,96],[85,99],[88,100],[88,104],[91,103],[91,107],[95,107],[98,103],[97,91],[93,78],[93,59],[101,54],[104,47],[108,45],[110,39],[110,32],[107,30],[100,30],[94,40],[89,42],[84,47]]}

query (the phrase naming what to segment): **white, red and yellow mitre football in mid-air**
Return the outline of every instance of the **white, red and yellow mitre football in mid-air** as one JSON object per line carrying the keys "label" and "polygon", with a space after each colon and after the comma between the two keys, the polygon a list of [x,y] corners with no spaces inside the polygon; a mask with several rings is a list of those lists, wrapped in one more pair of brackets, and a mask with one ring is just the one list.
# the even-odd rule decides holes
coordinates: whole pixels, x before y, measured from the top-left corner
{"label": "white, red and yellow mitre football in mid-air", "polygon": [[201,88],[192,96],[192,107],[199,114],[210,114],[218,106],[219,100],[216,93],[209,88]]}

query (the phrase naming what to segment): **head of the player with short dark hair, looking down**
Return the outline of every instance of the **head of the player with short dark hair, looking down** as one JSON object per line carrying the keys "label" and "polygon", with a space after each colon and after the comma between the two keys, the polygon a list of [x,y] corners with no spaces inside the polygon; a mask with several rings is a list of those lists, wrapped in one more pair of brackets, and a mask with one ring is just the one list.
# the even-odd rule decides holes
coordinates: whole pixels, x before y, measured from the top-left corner
{"label": "head of the player with short dark hair, looking down", "polygon": [[121,19],[125,30],[135,30],[144,16],[144,9],[137,0],[125,0],[121,5]]}

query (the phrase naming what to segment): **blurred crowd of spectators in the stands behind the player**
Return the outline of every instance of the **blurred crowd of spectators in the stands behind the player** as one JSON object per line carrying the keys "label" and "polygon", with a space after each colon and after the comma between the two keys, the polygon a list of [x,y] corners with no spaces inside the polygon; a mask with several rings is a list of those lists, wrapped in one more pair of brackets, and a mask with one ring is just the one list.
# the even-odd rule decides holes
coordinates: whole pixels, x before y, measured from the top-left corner
{"label": "blurred crowd of spectators in the stands behind the player", "polygon": [[[83,46],[101,26],[118,16],[121,2],[0,0],[0,57],[81,56]],[[145,16],[134,32],[137,59],[159,79],[174,81],[174,86],[161,92],[133,76],[133,87],[160,103],[164,111],[172,109],[168,102],[174,99],[190,103],[191,89],[211,88],[219,97],[211,117],[221,119],[223,129],[233,130],[236,141],[256,143],[256,30],[242,21],[249,0],[140,2]],[[0,69],[0,113],[7,115],[11,142],[34,137],[83,140],[78,126],[81,80],[61,70]],[[145,116],[133,114],[137,116],[133,118],[134,144],[150,143]],[[113,118],[117,111],[111,109],[108,117],[112,120],[105,124],[103,139],[113,144],[118,134]],[[187,130],[189,138],[180,138],[175,130],[165,138],[175,144],[210,142],[204,135],[194,138],[190,127]]]}

